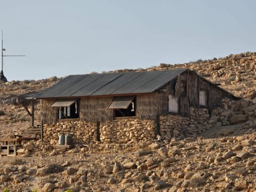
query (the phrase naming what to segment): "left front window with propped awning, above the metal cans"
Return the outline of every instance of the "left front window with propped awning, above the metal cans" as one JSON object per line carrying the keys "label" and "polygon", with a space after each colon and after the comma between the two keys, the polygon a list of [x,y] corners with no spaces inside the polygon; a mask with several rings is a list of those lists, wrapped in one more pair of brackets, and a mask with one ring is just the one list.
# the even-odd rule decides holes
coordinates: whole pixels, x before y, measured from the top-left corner
{"label": "left front window with propped awning, above the metal cans", "polygon": [[78,118],[79,102],[76,99],[58,99],[50,107],[57,108],[58,119]]}

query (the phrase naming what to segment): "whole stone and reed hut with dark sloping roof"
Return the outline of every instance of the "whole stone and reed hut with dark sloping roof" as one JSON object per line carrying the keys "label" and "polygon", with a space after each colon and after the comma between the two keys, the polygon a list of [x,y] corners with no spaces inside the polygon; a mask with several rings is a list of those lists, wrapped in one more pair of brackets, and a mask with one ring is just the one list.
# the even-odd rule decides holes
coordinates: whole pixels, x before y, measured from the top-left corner
{"label": "whole stone and reed hut with dark sloping roof", "polygon": [[[195,134],[218,123],[223,102],[238,98],[189,69],[70,75],[36,95],[45,139],[137,143]],[[229,124],[228,118],[222,118]],[[207,125],[207,126],[205,126]]]}

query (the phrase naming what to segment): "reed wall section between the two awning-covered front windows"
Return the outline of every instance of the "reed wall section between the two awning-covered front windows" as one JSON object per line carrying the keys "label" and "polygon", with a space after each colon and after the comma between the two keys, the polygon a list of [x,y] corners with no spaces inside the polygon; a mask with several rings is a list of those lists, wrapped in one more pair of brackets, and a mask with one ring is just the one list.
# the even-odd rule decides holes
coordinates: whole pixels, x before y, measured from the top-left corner
{"label": "reed wall section between the two awning-covered front windows", "polygon": [[113,121],[113,110],[107,109],[113,97],[82,98],[80,100],[80,117],[82,121],[101,122]]}

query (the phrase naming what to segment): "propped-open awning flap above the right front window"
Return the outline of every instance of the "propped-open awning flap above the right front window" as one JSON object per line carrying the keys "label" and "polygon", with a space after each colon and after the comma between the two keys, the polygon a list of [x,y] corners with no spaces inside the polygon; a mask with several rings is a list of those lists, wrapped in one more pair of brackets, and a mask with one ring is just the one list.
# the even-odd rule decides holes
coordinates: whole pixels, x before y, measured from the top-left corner
{"label": "propped-open awning flap above the right front window", "polygon": [[135,96],[116,97],[107,109],[127,109],[134,98]]}

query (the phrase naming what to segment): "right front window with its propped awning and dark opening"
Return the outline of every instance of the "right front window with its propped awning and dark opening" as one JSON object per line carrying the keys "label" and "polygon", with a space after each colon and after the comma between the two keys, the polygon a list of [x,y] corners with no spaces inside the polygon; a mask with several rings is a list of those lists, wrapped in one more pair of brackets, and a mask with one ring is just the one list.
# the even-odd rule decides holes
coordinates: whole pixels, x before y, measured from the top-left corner
{"label": "right front window with its propped awning and dark opening", "polygon": [[115,117],[134,117],[136,116],[136,98],[115,97],[107,109],[114,109]]}

